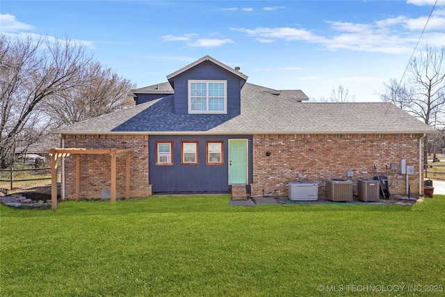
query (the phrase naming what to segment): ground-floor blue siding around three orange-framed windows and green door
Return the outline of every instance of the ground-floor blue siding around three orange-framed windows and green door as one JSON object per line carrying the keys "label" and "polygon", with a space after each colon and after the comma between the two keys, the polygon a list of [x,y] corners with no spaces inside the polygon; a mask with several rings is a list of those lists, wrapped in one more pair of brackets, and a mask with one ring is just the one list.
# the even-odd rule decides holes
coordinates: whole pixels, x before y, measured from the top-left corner
{"label": "ground-floor blue siding around three orange-framed windows and green door", "polygon": [[[229,139],[249,139],[249,184],[252,183],[252,136],[149,136],[149,184],[153,193],[229,193]],[[173,142],[173,165],[156,166],[156,142]],[[199,164],[181,165],[181,141],[198,141]],[[206,141],[224,142],[224,164],[206,164]]]}

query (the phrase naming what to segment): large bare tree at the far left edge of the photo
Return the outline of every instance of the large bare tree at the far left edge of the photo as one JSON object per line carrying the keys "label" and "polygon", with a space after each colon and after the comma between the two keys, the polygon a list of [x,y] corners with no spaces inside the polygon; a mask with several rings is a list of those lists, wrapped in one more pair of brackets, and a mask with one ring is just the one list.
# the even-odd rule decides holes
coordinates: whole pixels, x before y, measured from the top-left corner
{"label": "large bare tree at the far left edge of the photo", "polygon": [[0,168],[13,163],[26,129],[46,127],[42,101],[79,86],[88,63],[85,49],[68,39],[0,35]]}

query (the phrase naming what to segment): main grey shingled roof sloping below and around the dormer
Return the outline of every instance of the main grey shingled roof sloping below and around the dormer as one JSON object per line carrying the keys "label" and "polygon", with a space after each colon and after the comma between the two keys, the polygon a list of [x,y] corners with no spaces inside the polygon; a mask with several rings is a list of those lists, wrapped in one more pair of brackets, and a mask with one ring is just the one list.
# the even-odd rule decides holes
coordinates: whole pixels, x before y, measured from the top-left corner
{"label": "main grey shingled roof sloping below and around the dormer", "polygon": [[245,83],[241,115],[177,115],[173,95],[65,127],[59,134],[423,134],[435,130],[386,102],[302,103]]}

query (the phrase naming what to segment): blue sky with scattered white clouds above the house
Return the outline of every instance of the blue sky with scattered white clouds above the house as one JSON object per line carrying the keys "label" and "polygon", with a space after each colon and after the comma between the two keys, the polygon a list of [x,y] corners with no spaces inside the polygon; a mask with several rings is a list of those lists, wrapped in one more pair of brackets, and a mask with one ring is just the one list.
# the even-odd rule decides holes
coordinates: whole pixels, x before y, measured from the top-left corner
{"label": "blue sky with scattered white clouds above the house", "polygon": [[312,101],[341,85],[356,102],[379,102],[413,53],[445,47],[445,0],[1,0],[0,33],[68,36],[137,88],[209,55]]}

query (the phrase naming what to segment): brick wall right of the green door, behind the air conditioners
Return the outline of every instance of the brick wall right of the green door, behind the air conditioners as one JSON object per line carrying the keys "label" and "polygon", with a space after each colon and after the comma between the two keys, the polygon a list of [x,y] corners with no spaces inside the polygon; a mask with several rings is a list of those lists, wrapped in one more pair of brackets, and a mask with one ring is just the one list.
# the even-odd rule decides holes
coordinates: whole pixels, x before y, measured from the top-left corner
{"label": "brick wall right of the green door, behind the air conditioners", "polygon": [[[287,196],[289,182],[324,184],[325,179],[345,178],[348,171],[353,179],[375,177],[374,165],[385,172],[391,163],[398,170],[389,170],[391,194],[405,193],[405,175],[400,175],[401,159],[414,165],[416,174],[409,176],[410,192],[419,193],[419,141],[421,135],[254,135],[252,195],[261,195],[264,190],[277,190],[277,195]],[[422,145],[423,148],[423,145]],[[266,156],[270,152],[270,156]],[[367,173],[364,173],[367,172]],[[385,174],[386,175],[386,174]],[[318,195],[324,196],[324,188]]]}

